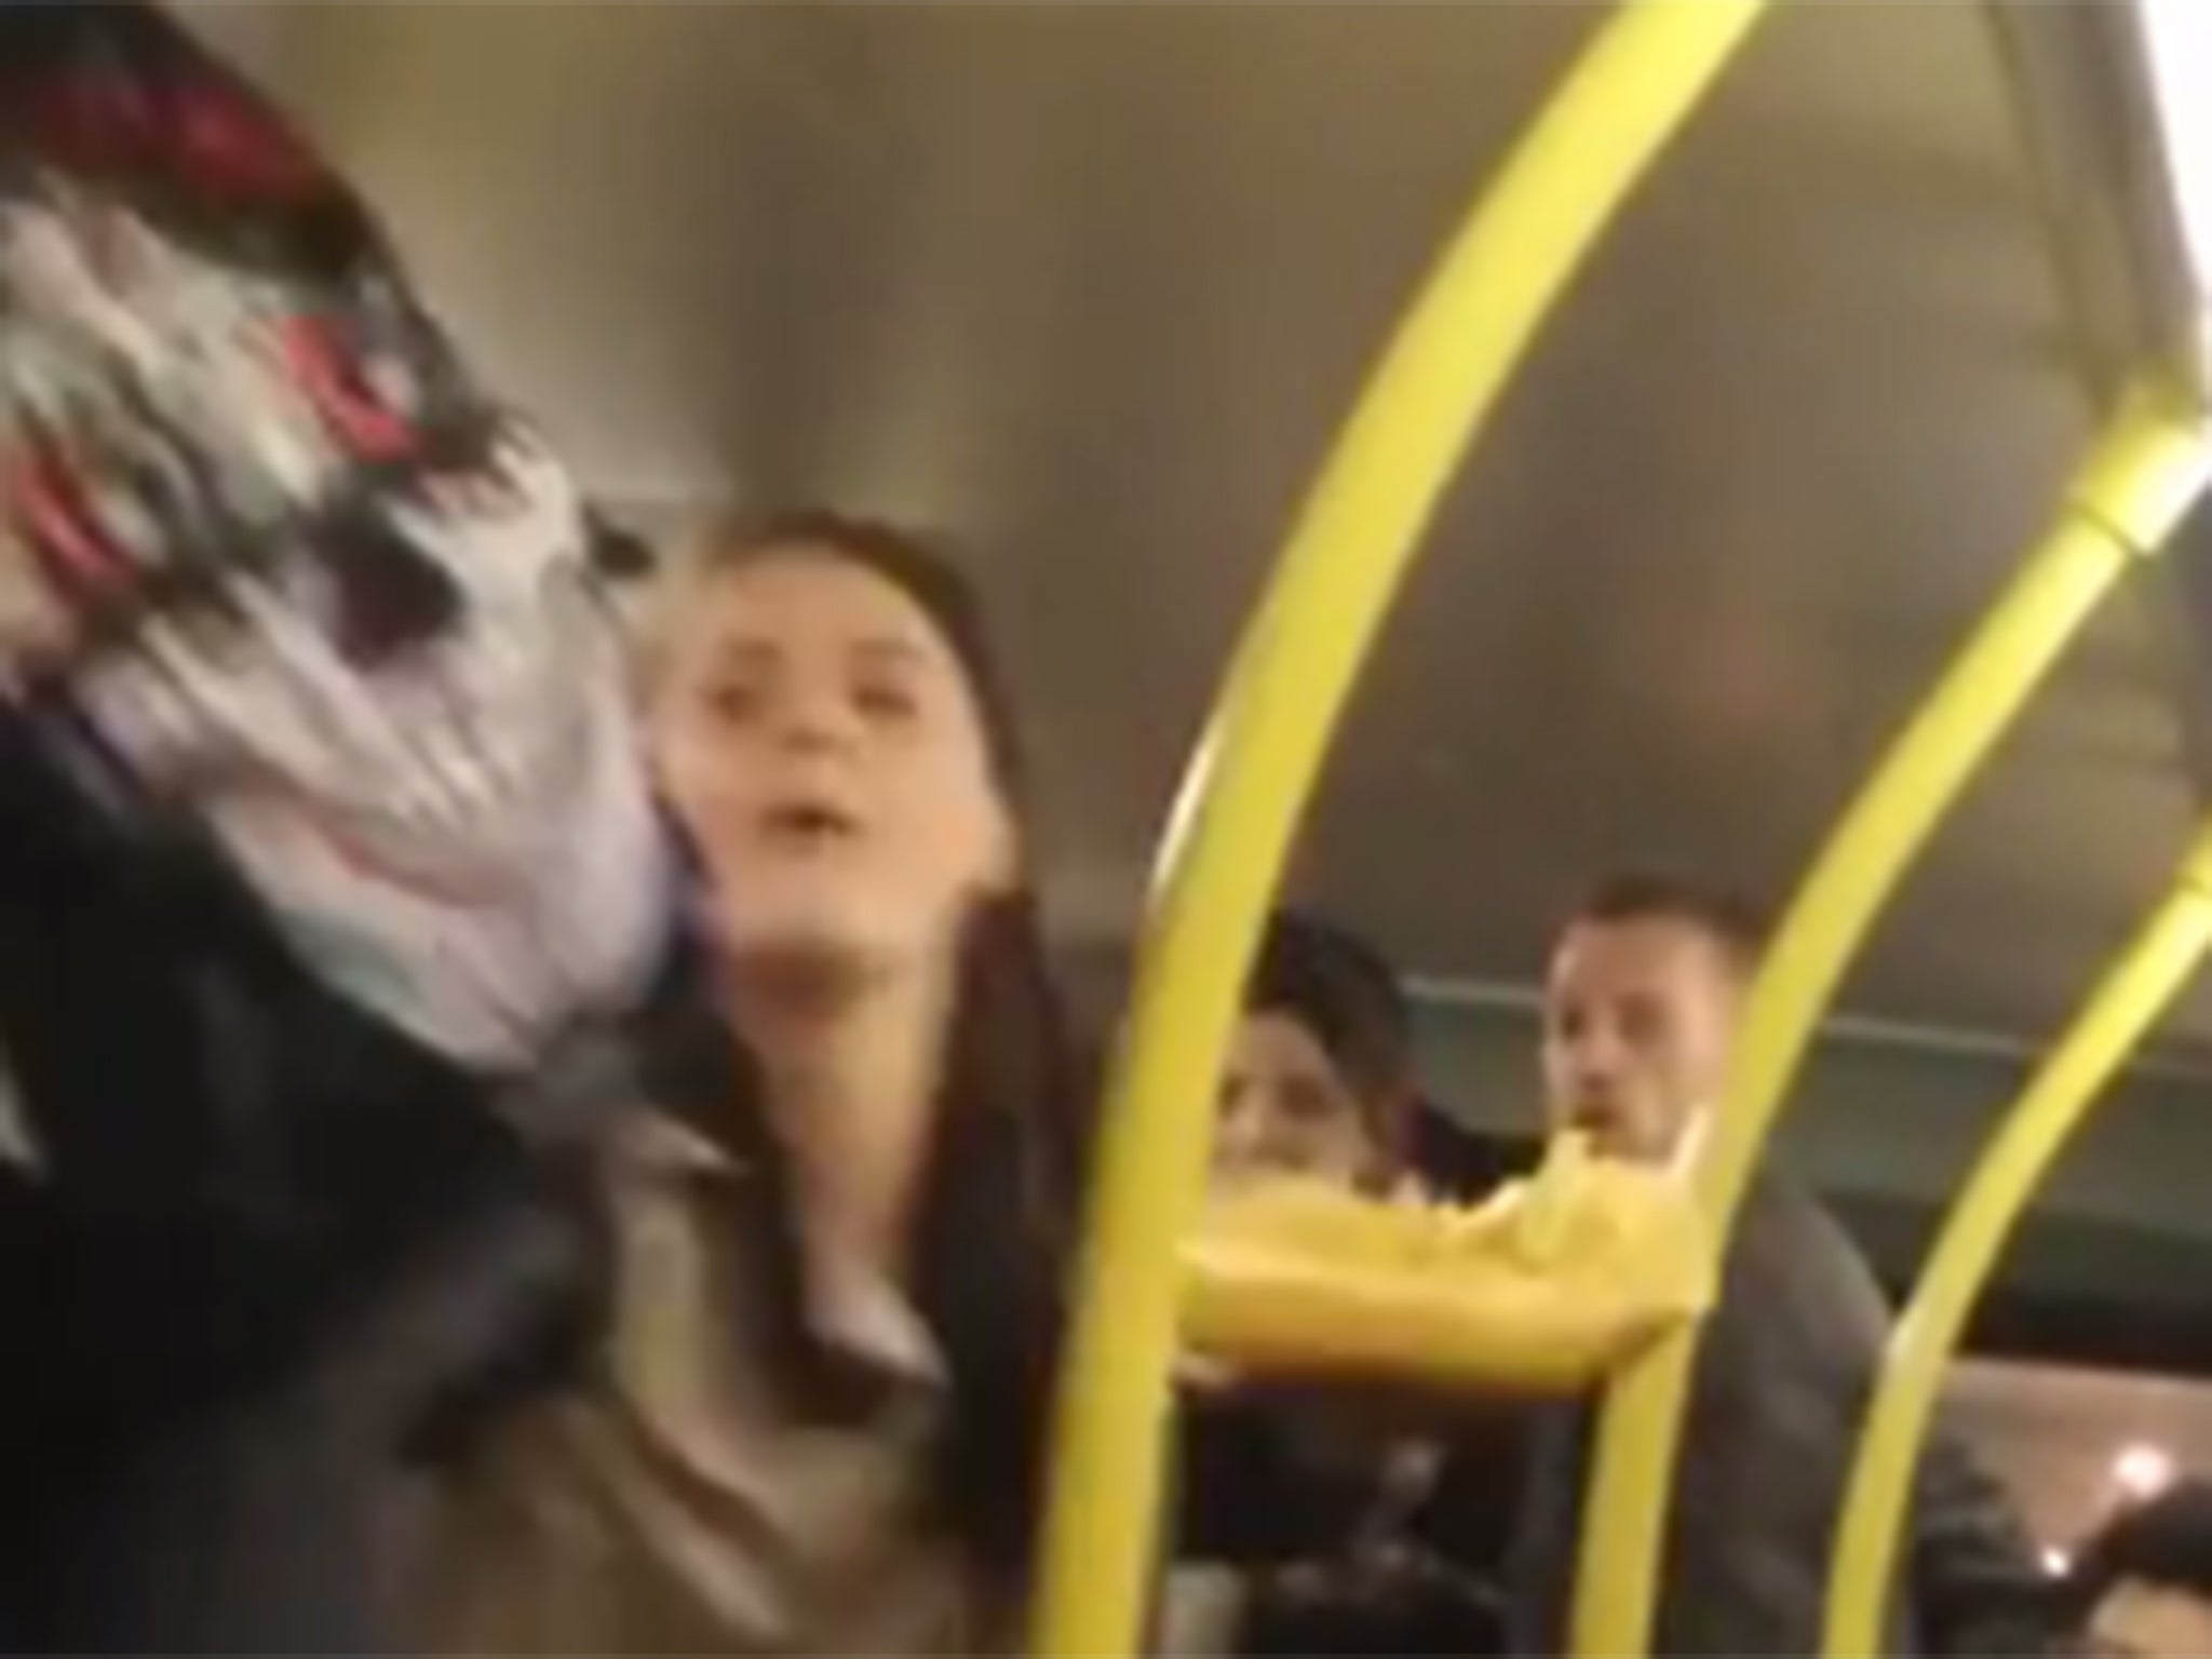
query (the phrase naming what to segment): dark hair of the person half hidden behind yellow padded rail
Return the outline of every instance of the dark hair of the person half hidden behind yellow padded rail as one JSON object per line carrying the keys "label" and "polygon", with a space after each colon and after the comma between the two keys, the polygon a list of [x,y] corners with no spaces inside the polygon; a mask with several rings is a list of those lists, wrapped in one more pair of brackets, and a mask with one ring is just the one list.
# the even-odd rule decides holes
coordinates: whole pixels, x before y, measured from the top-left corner
{"label": "dark hair of the person half hidden behind yellow padded rail", "polygon": [[1276,911],[1245,984],[1248,1013],[1281,1013],[1329,1055],[1376,1137],[1400,1150],[1413,1097],[1413,1040],[1398,975],[1369,945],[1294,909]]}

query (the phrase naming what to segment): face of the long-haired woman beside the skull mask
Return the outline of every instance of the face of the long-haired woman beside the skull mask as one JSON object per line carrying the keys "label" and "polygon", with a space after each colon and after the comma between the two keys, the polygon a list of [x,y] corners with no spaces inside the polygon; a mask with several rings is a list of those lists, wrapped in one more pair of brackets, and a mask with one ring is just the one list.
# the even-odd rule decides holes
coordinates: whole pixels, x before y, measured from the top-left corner
{"label": "face of the long-haired woman beside the skull mask", "polygon": [[1013,880],[967,675],[914,599],[834,551],[701,586],[675,619],[653,752],[739,962],[898,967]]}

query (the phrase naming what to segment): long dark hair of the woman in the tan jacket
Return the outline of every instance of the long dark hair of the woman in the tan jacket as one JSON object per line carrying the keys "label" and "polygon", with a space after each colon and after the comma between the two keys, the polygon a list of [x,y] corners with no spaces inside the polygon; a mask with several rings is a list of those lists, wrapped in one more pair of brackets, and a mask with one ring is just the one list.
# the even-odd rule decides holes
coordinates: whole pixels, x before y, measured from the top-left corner
{"label": "long dark hair of the woman in the tan jacket", "polygon": [[[1024,765],[1011,699],[982,611],[967,580],[920,540],[827,511],[776,513],[723,526],[703,546],[699,575],[818,557],[869,571],[938,630],[969,681],[989,768],[1018,830],[1026,830]],[[677,969],[703,980],[699,942]],[[938,1086],[933,1144],[911,1248],[909,1294],[951,1378],[945,1502],[987,1564],[1020,1571],[1042,1489],[1042,1440],[1060,1332],[1082,1139],[1075,1075],[1037,907],[1026,889],[980,900],[960,938],[951,1033]],[[772,1305],[794,1405],[865,1416],[874,1378],[814,1340],[801,1301],[790,1170],[774,1146],[759,1075],[710,1000],[692,989],[657,1044],[653,1093],[697,1110],[750,1144],[779,1201],[768,1206]],[[734,1108],[734,1110],[732,1110]]]}

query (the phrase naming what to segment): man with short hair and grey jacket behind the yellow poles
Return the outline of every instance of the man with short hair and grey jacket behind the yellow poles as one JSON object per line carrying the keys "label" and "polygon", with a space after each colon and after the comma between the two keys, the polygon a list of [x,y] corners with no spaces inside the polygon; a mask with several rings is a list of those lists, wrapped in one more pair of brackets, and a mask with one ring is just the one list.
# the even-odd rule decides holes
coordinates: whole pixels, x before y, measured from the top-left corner
{"label": "man with short hair and grey jacket behind the yellow poles", "polygon": [[[1719,1097],[1763,938],[1723,894],[1604,883],[1553,951],[1551,1126],[1672,1164]],[[1829,1548],[1889,1310],[1843,1228],[1772,1170],[1745,1197],[1677,1464],[1655,1655],[1818,1652]],[[1588,1413],[1531,1449],[1513,1579],[1520,1652],[1559,1652]],[[1938,1431],[1920,1467],[1889,1652],[2048,1646],[2042,1575],[2002,1491]]]}

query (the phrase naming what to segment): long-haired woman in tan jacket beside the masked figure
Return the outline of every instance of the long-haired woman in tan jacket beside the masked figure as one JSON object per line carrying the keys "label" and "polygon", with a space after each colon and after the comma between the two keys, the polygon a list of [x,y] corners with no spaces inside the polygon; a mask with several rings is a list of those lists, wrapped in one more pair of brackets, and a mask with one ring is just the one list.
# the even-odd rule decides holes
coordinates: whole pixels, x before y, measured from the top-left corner
{"label": "long-haired woman in tan jacket beside the masked figure", "polygon": [[434,1641],[989,1648],[1073,1124],[1004,692],[894,531],[781,518],[679,582],[646,728],[697,949],[602,1152],[602,1334],[453,1478]]}

